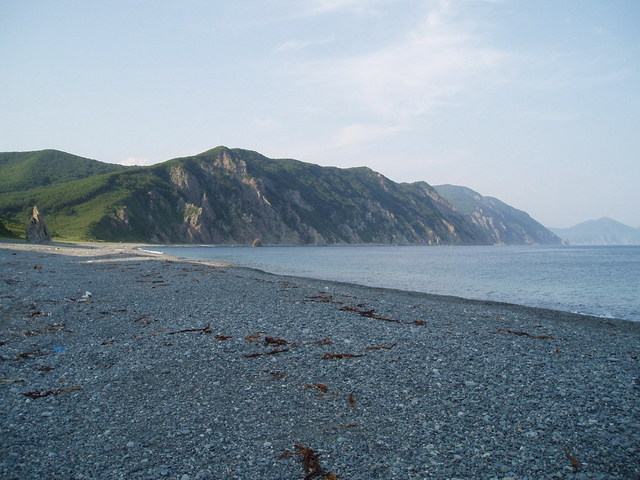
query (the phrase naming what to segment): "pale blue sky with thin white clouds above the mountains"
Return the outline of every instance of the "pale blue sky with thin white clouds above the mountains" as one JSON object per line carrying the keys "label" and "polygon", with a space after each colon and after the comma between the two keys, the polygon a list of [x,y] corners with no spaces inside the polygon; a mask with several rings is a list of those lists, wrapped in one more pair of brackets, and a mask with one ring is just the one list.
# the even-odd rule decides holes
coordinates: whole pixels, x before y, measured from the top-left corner
{"label": "pale blue sky with thin white clouds above the mountains", "polygon": [[640,1],[0,0],[0,151],[218,145],[640,226]]}

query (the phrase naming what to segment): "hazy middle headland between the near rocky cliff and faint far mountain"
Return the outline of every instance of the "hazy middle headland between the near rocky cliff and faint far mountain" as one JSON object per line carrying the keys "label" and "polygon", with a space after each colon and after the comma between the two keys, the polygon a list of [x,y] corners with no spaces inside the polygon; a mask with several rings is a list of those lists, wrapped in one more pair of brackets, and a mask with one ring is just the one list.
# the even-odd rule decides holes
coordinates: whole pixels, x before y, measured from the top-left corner
{"label": "hazy middle headland between the near rocky cliff and faint far mountain", "polygon": [[492,243],[557,244],[560,238],[526,212],[485,197],[467,187],[437,185],[438,194],[479,228],[491,233]]}

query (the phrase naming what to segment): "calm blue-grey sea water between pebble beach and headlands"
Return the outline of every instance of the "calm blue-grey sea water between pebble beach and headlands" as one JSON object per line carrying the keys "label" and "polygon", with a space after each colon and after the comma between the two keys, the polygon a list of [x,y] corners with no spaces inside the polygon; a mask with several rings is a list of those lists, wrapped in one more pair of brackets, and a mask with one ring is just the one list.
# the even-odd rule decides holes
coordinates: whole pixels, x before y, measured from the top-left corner
{"label": "calm blue-grey sea water between pebble beach and headlands", "polygon": [[170,255],[640,321],[640,246],[162,247]]}

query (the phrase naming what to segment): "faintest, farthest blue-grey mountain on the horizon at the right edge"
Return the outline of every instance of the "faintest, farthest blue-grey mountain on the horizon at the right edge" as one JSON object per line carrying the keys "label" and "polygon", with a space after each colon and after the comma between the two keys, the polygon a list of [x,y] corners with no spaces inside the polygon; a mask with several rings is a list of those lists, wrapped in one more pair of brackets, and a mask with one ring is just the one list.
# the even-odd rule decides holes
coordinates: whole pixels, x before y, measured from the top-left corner
{"label": "faintest, farthest blue-grey mountain on the horizon at the right edge", "polygon": [[607,217],[550,230],[573,245],[640,245],[640,228]]}

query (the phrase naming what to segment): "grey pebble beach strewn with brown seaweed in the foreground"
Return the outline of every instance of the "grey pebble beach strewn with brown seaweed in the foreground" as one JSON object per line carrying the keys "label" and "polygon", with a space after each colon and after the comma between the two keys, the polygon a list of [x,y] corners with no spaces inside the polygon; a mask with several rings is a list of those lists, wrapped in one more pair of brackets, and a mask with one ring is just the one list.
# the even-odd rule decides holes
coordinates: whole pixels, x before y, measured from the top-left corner
{"label": "grey pebble beach strewn with brown seaweed in the foreground", "polygon": [[0,243],[0,478],[640,478],[640,323]]}

